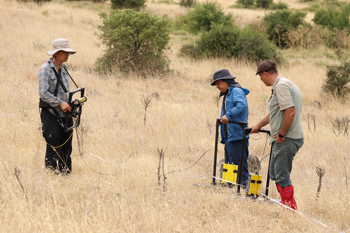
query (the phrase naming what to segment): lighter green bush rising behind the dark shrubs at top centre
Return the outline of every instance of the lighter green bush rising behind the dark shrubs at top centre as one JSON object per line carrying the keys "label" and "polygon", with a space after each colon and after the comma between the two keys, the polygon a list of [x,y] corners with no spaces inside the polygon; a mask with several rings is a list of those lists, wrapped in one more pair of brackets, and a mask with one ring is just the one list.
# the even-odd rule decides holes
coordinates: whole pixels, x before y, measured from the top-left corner
{"label": "lighter green bush rising behind the dark shrubs at top centre", "polygon": [[193,10],[188,11],[184,19],[192,33],[209,31],[212,23],[232,26],[234,21],[232,14],[225,15],[220,4],[211,1],[197,3]]}

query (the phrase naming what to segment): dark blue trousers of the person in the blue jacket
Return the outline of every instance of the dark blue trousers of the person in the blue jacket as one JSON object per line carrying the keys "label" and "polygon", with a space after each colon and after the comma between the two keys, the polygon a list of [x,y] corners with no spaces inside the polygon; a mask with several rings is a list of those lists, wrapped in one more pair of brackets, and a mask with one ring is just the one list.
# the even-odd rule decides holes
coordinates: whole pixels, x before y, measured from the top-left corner
{"label": "dark blue trousers of the person in the blue jacket", "polygon": [[[225,142],[225,163],[230,163],[234,165],[238,165],[239,170],[239,163],[240,163],[240,155],[242,151],[242,142],[243,139],[235,140],[235,141],[227,141]],[[249,141],[248,138],[245,140],[245,149],[244,149],[244,160],[243,160],[243,185],[247,185],[247,180],[249,178],[249,172],[248,172],[248,146]],[[239,174],[238,174],[239,175]],[[237,176],[237,182],[238,182],[238,176]],[[236,183],[237,183],[236,182]]]}

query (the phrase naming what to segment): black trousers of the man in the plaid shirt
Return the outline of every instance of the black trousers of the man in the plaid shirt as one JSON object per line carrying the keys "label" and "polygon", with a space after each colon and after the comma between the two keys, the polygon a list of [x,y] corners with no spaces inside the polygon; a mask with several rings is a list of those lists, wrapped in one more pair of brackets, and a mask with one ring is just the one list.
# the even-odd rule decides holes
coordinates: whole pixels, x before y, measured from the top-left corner
{"label": "black trousers of the man in the plaid shirt", "polygon": [[[64,122],[64,118],[61,119]],[[41,122],[47,143],[45,166],[47,168],[58,169],[61,172],[70,173],[72,171],[72,159],[70,155],[72,154],[73,130],[64,132],[62,126],[57,121],[57,117],[48,109],[41,110]],[[68,127],[71,126],[73,126],[72,118],[68,121]],[[51,146],[57,148],[52,148]]]}

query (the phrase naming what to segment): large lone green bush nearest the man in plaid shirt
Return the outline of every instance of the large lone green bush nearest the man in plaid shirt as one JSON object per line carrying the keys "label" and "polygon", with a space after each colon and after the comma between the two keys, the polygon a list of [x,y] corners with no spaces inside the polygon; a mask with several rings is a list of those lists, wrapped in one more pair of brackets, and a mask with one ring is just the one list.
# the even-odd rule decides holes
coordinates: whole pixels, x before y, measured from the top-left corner
{"label": "large lone green bush nearest the man in plaid shirt", "polygon": [[96,70],[108,72],[115,69],[125,73],[138,72],[143,76],[170,71],[170,60],[165,50],[170,49],[169,19],[149,12],[131,9],[112,10],[99,14],[103,25],[96,33],[106,50],[96,63]]}

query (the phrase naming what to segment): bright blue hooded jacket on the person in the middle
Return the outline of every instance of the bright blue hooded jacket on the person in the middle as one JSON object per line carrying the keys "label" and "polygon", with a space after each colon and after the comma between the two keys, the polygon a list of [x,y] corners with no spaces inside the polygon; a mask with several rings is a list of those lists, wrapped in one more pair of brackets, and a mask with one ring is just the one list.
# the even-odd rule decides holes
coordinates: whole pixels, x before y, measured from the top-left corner
{"label": "bright blue hooded jacket on the person in the middle", "polygon": [[[246,95],[249,94],[249,90],[246,88],[239,88],[230,86],[229,92],[226,96],[226,113],[225,116],[232,121],[243,121],[248,122],[248,102]],[[224,106],[224,103],[223,103]],[[221,117],[223,116],[223,108],[221,108]],[[221,143],[228,141],[235,141],[238,139],[243,139],[243,129],[238,124],[228,123],[227,133],[228,138],[225,138],[224,127],[221,127]],[[248,124],[247,124],[248,127]],[[247,138],[249,135],[247,136]]]}

